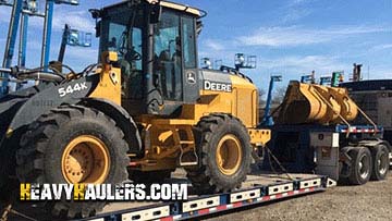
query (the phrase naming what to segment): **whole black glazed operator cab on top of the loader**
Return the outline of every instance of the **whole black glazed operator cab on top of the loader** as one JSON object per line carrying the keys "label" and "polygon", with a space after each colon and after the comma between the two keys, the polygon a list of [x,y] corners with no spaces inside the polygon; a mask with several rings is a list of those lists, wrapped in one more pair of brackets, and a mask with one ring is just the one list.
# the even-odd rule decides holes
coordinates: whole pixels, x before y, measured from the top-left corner
{"label": "whole black glazed operator cab on top of the loader", "polygon": [[[118,52],[122,106],[132,115],[172,115],[195,102],[198,17],[195,9],[162,1],[126,1],[99,12],[100,53]],[[186,86],[189,74],[194,82]]]}

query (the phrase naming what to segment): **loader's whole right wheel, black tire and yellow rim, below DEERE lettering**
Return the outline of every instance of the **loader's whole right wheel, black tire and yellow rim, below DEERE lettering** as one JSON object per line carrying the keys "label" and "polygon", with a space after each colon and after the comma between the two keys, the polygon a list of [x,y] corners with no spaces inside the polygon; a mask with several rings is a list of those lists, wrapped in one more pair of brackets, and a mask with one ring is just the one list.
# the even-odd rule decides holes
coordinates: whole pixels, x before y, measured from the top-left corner
{"label": "loader's whole right wheel, black tire and yellow rim, below DEERE lettering", "polygon": [[204,116],[197,124],[199,167],[187,168],[187,177],[199,194],[241,187],[250,171],[250,138],[246,127],[228,114]]}

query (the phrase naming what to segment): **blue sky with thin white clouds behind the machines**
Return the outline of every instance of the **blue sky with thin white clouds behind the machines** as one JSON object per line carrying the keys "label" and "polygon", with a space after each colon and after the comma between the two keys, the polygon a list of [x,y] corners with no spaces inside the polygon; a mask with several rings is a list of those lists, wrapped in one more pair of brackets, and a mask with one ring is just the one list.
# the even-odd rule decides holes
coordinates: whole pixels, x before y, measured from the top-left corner
{"label": "blue sky with thin white clouds behind the machines", "polygon": [[[40,1],[42,2],[42,0]],[[56,59],[64,23],[94,32],[89,8],[118,1],[81,0],[79,7],[58,5],[53,21],[52,53]],[[245,70],[261,88],[271,74],[284,83],[313,70],[317,76],[364,64],[364,78],[392,78],[391,0],[180,0],[208,12],[199,37],[199,57],[232,65],[234,53],[257,56],[257,69]],[[3,54],[10,9],[0,8],[0,58]],[[41,23],[32,19],[27,64],[39,64]],[[97,60],[91,48],[68,48],[65,63],[76,70]]]}

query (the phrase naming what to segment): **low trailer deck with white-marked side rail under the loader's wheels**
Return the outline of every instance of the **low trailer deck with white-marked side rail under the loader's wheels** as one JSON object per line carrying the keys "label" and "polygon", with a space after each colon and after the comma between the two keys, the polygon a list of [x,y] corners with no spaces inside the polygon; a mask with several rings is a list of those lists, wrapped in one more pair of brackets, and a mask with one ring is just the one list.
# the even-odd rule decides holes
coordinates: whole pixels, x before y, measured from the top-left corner
{"label": "low trailer deck with white-marked side rail under the loader's wheels", "polygon": [[[175,202],[117,202],[108,205],[96,218],[85,221],[187,220],[212,213],[326,191],[333,180],[314,174],[248,175],[243,188],[233,193],[193,196]],[[119,210],[120,209],[120,210]]]}

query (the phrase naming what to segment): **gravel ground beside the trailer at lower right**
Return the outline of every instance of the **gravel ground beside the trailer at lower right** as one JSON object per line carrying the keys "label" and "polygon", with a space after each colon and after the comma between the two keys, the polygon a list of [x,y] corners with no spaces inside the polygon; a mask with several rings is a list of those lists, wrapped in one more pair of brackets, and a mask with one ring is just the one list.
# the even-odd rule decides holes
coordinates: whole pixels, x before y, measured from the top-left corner
{"label": "gravel ground beside the trailer at lower right", "polygon": [[387,181],[370,182],[364,186],[338,186],[323,193],[205,220],[392,220],[392,174]]}

